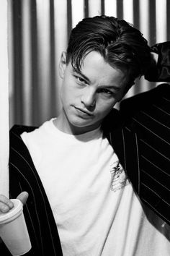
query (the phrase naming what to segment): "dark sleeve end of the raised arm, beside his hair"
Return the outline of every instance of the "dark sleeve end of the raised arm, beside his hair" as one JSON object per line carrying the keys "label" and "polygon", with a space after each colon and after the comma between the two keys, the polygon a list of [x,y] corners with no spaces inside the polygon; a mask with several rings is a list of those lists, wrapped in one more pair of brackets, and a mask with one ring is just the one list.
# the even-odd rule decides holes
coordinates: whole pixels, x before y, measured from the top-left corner
{"label": "dark sleeve end of the raised arm, beside his hair", "polygon": [[157,43],[151,47],[151,52],[158,54],[158,61],[148,69],[145,79],[151,82],[170,82],[170,41]]}

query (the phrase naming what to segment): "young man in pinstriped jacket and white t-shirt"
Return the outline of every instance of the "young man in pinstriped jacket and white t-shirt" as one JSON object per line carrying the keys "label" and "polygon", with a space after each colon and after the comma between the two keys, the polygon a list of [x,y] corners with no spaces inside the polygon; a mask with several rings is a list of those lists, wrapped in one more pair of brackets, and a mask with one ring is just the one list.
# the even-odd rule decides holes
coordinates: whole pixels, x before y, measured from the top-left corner
{"label": "young man in pinstriped jacket and white t-shirt", "polygon": [[[161,66],[168,49],[153,48]],[[11,131],[10,196],[29,194],[28,255],[169,255],[169,87],[113,108],[149,70],[169,79],[152,64],[146,40],[124,20],[87,18],[72,30],[60,115]],[[1,211],[12,208],[0,200]]]}

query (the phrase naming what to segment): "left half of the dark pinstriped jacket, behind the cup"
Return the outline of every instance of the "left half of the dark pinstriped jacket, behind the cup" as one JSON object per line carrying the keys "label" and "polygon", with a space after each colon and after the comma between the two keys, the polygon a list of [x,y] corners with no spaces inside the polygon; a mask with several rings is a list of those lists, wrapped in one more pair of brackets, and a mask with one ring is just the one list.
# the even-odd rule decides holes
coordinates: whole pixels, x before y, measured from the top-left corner
{"label": "left half of the dark pinstriped jacket, behind the cup", "polygon": [[34,128],[15,126],[10,132],[10,197],[15,198],[22,191],[29,193],[24,206],[24,216],[27,220],[32,249],[27,255],[62,255],[57,227],[45,190],[30,153],[19,136],[23,131],[30,132],[32,129]]}

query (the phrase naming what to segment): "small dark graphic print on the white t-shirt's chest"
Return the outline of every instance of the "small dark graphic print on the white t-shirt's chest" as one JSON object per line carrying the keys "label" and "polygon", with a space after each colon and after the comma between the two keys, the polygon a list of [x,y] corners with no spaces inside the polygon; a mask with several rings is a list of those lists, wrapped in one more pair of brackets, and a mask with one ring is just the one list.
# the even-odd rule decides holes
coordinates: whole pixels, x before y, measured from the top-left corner
{"label": "small dark graphic print on the white t-shirt's chest", "polygon": [[119,189],[122,189],[126,185],[130,184],[127,175],[125,174],[124,169],[122,168],[122,165],[120,164],[120,161],[116,161],[112,163],[111,166],[111,190],[116,192]]}

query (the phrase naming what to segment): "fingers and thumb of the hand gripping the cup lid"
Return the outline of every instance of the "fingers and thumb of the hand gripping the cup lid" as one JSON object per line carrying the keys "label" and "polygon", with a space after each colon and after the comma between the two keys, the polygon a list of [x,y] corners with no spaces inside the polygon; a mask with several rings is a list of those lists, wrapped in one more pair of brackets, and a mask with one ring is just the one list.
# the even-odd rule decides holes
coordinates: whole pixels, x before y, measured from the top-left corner
{"label": "fingers and thumb of the hand gripping the cup lid", "polygon": [[[27,201],[28,193],[22,192],[17,196],[17,199],[19,199],[23,205]],[[9,210],[11,210],[14,207],[14,204],[11,200],[9,200],[4,195],[0,195],[0,213],[8,213]]]}

